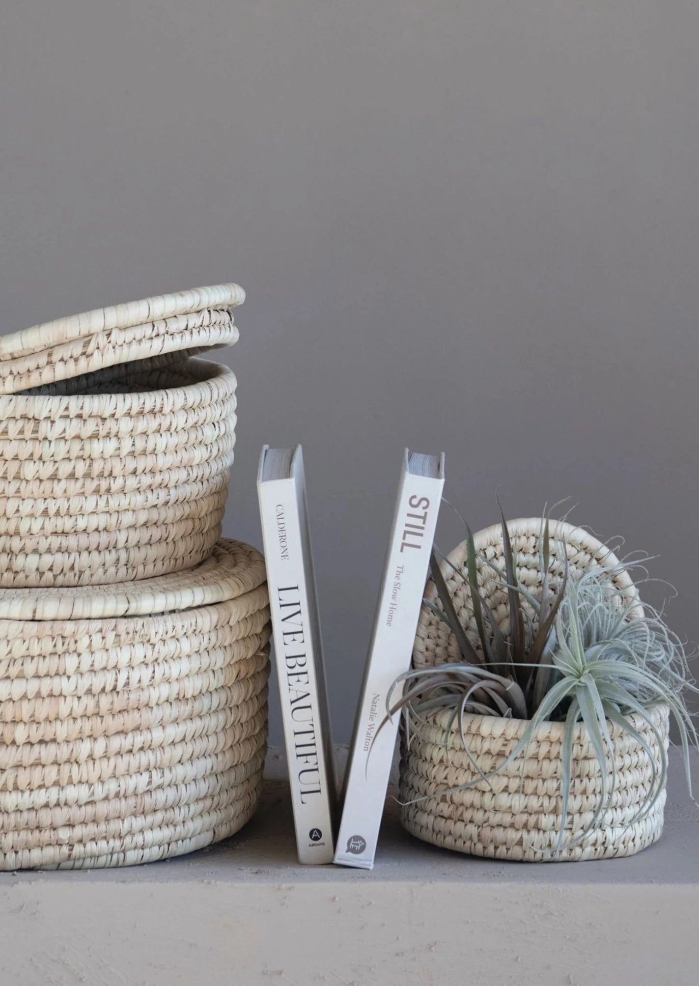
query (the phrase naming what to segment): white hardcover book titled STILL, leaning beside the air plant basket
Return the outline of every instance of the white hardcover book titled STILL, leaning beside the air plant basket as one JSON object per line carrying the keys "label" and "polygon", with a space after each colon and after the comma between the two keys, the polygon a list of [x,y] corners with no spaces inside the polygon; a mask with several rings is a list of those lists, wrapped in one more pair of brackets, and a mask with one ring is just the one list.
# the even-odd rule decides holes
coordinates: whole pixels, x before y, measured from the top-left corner
{"label": "white hardcover book titled STILL, leaning beside the air plant basket", "polygon": [[[444,455],[405,450],[384,579],[345,776],[334,862],[371,870],[399,716],[379,727],[393,681],[410,667],[444,487]],[[396,687],[397,701],[402,688]]]}

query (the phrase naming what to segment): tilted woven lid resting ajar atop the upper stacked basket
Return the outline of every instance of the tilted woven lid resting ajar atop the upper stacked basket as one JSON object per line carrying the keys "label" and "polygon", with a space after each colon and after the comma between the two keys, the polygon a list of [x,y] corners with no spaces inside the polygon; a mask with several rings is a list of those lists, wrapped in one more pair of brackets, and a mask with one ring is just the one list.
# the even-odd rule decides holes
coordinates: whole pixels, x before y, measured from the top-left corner
{"label": "tilted woven lid resting ajar atop the upper stacked basket", "polygon": [[0,393],[17,393],[175,351],[238,340],[237,284],[158,295],[47,321],[0,338]]}

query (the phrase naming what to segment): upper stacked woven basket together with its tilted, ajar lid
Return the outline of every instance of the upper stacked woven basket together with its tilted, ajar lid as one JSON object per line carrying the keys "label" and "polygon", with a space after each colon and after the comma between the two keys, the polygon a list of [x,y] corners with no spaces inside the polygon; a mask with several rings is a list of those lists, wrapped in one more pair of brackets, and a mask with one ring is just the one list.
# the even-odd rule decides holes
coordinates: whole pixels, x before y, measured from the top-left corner
{"label": "upper stacked woven basket together with its tilted, ajar lid", "polygon": [[243,297],[202,288],[0,339],[0,587],[125,582],[207,557],[236,378],[188,354],[236,341]]}

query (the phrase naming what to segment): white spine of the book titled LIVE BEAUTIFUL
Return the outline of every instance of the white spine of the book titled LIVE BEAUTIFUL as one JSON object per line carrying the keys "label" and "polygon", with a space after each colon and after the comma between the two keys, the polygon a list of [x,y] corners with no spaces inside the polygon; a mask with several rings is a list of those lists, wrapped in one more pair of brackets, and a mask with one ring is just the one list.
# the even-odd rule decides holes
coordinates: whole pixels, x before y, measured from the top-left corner
{"label": "white spine of the book titled LIVE BEAUTIFUL", "polygon": [[[300,505],[294,479],[258,484],[299,861],[332,862],[333,838]],[[334,782],[334,779],[333,779]]]}

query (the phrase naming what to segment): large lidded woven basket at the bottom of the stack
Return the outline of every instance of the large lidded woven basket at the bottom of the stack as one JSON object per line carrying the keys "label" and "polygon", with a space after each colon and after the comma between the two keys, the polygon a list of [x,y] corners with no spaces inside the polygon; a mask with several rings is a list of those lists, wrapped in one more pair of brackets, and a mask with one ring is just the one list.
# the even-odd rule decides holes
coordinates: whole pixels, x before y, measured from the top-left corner
{"label": "large lidded woven basket at the bottom of the stack", "polygon": [[0,869],[130,866],[238,831],[261,790],[261,555],[186,573],[0,590]]}

